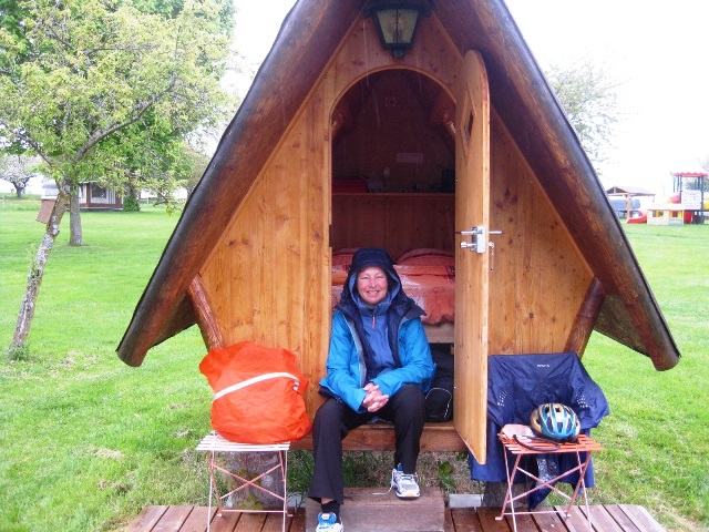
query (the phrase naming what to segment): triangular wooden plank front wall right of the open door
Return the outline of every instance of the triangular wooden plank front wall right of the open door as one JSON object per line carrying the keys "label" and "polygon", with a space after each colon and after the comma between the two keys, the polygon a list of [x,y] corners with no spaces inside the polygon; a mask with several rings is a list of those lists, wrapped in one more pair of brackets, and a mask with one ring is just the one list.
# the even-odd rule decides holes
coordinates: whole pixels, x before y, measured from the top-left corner
{"label": "triangular wooden plank front wall right of the open door", "polygon": [[495,113],[491,130],[489,352],[559,352],[593,274]]}

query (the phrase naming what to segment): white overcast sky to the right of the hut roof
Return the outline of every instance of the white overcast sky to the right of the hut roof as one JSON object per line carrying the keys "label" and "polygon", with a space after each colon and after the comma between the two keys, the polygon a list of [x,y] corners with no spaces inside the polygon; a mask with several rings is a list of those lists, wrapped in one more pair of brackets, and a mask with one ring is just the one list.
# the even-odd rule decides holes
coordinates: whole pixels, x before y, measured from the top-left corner
{"label": "white overcast sky to the right of the hut roof", "polygon": [[597,168],[604,185],[668,195],[671,172],[701,168],[709,158],[709,2],[506,3],[543,70],[589,58],[619,83],[615,149]]}

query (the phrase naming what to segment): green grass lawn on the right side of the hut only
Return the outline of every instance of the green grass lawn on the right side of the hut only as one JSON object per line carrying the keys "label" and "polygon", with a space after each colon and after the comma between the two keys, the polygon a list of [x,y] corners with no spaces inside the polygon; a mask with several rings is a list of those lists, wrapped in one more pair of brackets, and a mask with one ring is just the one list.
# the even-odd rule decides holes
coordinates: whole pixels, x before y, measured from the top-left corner
{"label": "green grass lawn on the right side of the hut only", "polygon": [[610,402],[594,432],[594,501],[645,505],[668,530],[709,530],[709,225],[624,225],[682,358],[669,371],[594,334],[584,365]]}

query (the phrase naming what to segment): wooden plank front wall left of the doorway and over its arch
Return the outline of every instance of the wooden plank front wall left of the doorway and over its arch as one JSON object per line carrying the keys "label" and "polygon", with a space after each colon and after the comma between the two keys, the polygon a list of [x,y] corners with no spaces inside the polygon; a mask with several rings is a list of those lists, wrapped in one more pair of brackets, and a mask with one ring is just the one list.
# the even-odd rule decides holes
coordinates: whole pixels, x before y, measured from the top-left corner
{"label": "wooden plank front wall left of the doorway and over its arch", "polygon": [[[418,30],[417,41],[423,48],[395,66],[428,65],[452,90],[460,54],[435,17]],[[371,19],[361,20],[201,272],[227,345],[249,339],[299,356],[312,385],[306,393],[310,415],[321,401],[317,382],[330,329],[330,113],[358,79],[391,66]]]}

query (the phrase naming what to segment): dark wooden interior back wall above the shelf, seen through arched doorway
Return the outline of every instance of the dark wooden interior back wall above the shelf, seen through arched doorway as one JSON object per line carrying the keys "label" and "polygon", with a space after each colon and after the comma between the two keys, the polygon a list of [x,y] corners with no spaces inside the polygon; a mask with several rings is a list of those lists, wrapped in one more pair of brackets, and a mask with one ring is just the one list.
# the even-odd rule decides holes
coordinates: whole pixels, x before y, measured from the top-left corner
{"label": "dark wooden interior back wall above the shelf, seen through arched doorway", "polygon": [[[438,98],[441,94],[441,98]],[[440,85],[410,70],[376,72],[338,102],[349,120],[332,139],[332,175],[386,177],[388,192],[434,192],[442,171],[453,168],[454,142],[442,126],[439,102],[453,106]],[[341,119],[340,119],[341,120]],[[415,186],[414,186],[415,185]]]}

